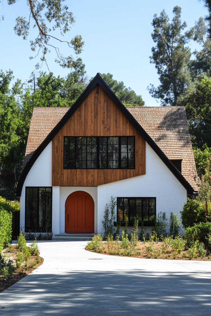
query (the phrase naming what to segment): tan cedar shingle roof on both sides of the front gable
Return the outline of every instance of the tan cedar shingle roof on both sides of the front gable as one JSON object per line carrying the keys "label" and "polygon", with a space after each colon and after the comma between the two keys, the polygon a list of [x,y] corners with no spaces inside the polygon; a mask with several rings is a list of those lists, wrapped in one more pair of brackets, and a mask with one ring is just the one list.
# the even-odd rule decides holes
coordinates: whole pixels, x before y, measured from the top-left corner
{"label": "tan cedar shingle roof on both sides of the front gable", "polygon": [[[34,107],[23,167],[35,149],[59,123],[69,107]],[[170,159],[182,159],[182,174],[193,189],[197,186],[195,161],[184,107],[127,107],[137,122]]]}

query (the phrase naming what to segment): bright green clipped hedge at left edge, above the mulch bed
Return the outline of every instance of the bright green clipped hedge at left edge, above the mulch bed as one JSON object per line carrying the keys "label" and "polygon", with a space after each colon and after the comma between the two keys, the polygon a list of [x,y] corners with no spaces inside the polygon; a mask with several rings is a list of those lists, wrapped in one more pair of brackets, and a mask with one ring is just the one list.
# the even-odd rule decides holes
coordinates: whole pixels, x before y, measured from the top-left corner
{"label": "bright green clipped hedge at left edge, above the mulch bed", "polygon": [[0,253],[12,239],[12,213],[0,206]]}

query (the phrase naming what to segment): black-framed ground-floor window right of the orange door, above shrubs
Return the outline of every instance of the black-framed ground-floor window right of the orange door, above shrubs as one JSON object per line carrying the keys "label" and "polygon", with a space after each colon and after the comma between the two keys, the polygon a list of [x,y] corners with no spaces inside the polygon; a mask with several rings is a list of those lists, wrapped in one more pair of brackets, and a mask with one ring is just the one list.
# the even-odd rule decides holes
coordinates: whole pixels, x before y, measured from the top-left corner
{"label": "black-framed ground-floor window right of the orange door, above shrubs", "polygon": [[117,197],[117,222],[154,222],[155,197]]}

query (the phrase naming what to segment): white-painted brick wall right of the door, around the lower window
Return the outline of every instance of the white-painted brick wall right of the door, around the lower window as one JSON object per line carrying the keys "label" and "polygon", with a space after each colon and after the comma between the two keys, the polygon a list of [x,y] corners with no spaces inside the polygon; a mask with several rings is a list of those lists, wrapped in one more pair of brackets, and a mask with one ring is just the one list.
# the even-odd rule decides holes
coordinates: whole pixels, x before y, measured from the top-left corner
{"label": "white-painted brick wall right of the door, around the lower window", "polygon": [[102,220],[105,204],[110,197],[156,197],[156,213],[177,214],[187,200],[187,191],[165,166],[163,161],[146,144],[146,174],[97,187],[98,234],[103,233]]}

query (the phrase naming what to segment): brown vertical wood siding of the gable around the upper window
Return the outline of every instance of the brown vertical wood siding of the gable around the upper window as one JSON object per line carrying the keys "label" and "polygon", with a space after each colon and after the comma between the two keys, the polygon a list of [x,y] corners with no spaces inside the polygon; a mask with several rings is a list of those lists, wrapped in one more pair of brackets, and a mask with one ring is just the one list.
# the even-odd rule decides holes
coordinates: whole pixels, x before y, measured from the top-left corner
{"label": "brown vertical wood siding of the gable around the upper window", "polygon": [[[64,169],[64,136],[135,136],[135,169]],[[104,90],[91,91],[53,138],[52,185],[97,186],[146,173],[146,143]]]}

